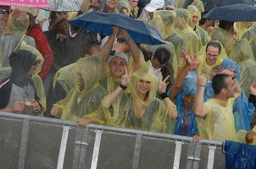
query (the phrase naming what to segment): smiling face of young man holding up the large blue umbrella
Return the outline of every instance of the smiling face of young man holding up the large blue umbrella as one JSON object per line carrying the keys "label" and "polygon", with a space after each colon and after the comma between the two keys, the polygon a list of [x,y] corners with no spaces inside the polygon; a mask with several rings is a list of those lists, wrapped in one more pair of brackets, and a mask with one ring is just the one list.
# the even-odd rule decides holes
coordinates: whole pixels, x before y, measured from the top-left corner
{"label": "smiling face of young man holding up the large blue umbrella", "polygon": [[125,59],[121,57],[114,57],[110,61],[109,67],[111,74],[113,74],[116,78],[121,78],[121,76],[125,74]]}

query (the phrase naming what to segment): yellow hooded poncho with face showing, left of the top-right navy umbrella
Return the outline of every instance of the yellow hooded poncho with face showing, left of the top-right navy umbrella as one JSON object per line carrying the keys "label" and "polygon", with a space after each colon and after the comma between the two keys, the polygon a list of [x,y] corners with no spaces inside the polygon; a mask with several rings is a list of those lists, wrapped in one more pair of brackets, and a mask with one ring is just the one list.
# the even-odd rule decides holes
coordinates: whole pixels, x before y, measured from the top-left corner
{"label": "yellow hooded poncho with face showing, left of the top-right navy umbrella", "polygon": [[[206,30],[203,30],[203,28],[199,26],[199,20],[201,19],[201,12],[194,5],[189,5],[186,10],[188,11],[190,16],[190,19],[188,22],[189,26],[196,31],[199,39],[201,40],[201,46],[205,46],[209,42],[210,38],[209,38],[208,32]],[[198,23],[196,25],[192,23],[193,16],[198,16]]]}

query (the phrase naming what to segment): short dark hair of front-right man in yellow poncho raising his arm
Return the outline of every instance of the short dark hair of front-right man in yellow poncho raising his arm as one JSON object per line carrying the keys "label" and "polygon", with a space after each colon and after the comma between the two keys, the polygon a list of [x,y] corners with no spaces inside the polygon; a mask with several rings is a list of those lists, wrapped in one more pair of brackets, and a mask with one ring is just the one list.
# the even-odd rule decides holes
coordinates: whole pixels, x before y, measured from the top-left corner
{"label": "short dark hair of front-right man in yellow poncho raising his arm", "polygon": [[214,95],[219,95],[222,88],[227,89],[225,79],[230,77],[228,74],[216,74],[212,79],[212,86],[214,89]]}

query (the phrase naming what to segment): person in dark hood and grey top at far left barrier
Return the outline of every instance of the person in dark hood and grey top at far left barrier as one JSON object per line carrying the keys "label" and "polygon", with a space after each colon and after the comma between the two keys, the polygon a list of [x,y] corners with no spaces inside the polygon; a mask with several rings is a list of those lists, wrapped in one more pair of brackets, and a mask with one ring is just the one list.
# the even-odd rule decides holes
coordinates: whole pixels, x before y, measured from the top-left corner
{"label": "person in dark hood and grey top at far left barrier", "polygon": [[32,79],[28,77],[36,61],[36,55],[26,50],[19,50],[12,52],[8,58],[12,72],[0,85],[0,111],[27,115],[40,114],[42,104]]}

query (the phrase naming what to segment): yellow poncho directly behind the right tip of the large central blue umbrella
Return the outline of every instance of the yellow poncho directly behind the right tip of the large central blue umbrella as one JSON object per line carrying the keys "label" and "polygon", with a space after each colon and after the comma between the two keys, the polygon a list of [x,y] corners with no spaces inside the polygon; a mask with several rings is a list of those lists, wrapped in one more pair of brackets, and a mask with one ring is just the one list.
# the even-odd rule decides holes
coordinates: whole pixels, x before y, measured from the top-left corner
{"label": "yellow poncho directly behind the right tip of the large central blue umbrella", "polygon": [[[175,11],[171,10],[157,10],[154,14],[159,14],[161,19],[164,22],[164,41],[169,41],[175,47],[175,56],[177,58],[177,72],[183,68],[185,65],[185,61],[182,55],[182,50],[186,51],[185,42],[181,35],[177,34],[173,28],[173,24],[175,21]],[[175,67],[176,67],[175,66]]]}

